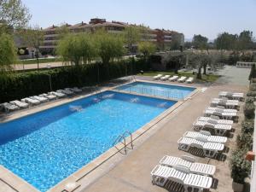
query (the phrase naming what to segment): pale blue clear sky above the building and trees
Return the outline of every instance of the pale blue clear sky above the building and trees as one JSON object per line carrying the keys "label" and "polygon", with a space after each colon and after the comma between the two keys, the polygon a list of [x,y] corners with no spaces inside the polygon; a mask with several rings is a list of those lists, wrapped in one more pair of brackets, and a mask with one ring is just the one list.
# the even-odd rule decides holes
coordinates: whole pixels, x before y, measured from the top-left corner
{"label": "pale blue clear sky above the building and trees", "polygon": [[98,17],[183,32],[209,39],[219,32],[253,31],[256,0],[23,0],[32,14],[31,25],[75,24]]}

